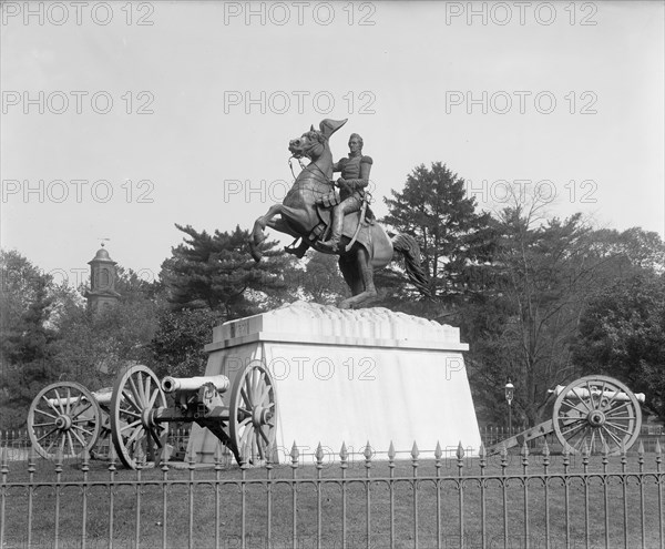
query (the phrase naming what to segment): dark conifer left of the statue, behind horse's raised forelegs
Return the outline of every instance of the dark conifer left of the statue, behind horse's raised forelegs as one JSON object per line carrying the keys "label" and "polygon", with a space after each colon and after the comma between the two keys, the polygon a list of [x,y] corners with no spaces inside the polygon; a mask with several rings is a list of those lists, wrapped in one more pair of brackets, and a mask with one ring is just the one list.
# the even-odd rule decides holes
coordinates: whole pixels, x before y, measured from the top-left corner
{"label": "dark conifer left of the statue, behind horse's raised forelegs", "polygon": [[248,247],[249,233],[197,232],[190,225],[176,227],[188,235],[162,264],[161,278],[175,308],[207,307],[225,319],[255,314],[288,296],[288,275],[295,260],[264,242],[264,261],[255,262]]}

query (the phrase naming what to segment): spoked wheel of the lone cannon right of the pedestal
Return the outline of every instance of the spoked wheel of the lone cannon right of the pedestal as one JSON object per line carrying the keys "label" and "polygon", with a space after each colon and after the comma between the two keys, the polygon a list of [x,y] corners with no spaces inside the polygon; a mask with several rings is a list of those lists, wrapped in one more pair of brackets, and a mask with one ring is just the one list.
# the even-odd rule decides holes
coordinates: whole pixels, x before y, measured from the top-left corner
{"label": "spoked wheel of the lone cannon right of the pedestal", "polygon": [[[616,398],[620,393],[624,399]],[[606,444],[610,455],[616,456],[640,436],[642,409],[635,395],[621,382],[587,376],[559,394],[552,423],[556,437],[572,453],[581,454],[586,446],[590,453],[602,454]]]}

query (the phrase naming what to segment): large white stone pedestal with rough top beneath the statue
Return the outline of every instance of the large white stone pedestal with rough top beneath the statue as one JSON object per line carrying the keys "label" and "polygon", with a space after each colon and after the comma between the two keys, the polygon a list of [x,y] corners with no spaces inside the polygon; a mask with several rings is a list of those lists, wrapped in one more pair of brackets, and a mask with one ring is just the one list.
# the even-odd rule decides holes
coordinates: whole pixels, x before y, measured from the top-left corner
{"label": "large white stone pedestal with rough top beneath the statue", "polygon": [[[361,453],[369,441],[386,459],[421,458],[437,443],[448,455],[462,443],[477,455],[480,431],[459,340],[459,328],[386,308],[342,311],[297,302],[217,326],[206,375],[231,378],[249,360],[265,360],[275,379],[280,461],[294,441],[300,454],[320,443],[326,460],[338,461],[345,443]],[[212,462],[217,438],[194,426],[187,454]],[[187,456],[188,458],[188,456]],[[311,462],[314,458],[305,458]],[[357,459],[357,458],[356,458]]]}

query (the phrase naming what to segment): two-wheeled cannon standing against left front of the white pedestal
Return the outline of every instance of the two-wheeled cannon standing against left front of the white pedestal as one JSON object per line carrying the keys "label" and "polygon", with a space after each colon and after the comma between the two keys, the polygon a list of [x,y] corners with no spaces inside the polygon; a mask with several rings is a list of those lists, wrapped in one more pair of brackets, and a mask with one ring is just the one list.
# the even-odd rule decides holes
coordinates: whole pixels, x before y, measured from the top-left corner
{"label": "two-wheeled cannon standing against left front of the white pedestal", "polygon": [[[166,395],[173,398],[167,405]],[[161,382],[146,366],[121,372],[110,403],[111,437],[120,460],[136,468],[140,456],[166,451],[170,423],[193,421],[213,433],[239,462],[264,460],[275,443],[277,397],[265,364],[253,360],[235,376]]]}

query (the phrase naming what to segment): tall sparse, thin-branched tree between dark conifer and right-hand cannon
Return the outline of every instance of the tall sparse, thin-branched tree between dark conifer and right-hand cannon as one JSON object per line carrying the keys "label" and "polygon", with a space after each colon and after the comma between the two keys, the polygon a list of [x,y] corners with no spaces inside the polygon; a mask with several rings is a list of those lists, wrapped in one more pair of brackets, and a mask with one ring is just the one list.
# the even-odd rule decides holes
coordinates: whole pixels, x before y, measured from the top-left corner
{"label": "tall sparse, thin-branched tree between dark conifer and right-hand cannon", "polygon": [[480,400],[489,410],[504,406],[501,389],[511,378],[515,409],[530,425],[549,414],[548,389],[579,374],[571,343],[608,261],[593,252],[594,232],[581,214],[545,220],[543,207],[538,197],[520,197],[497,215],[482,298],[460,315]]}

